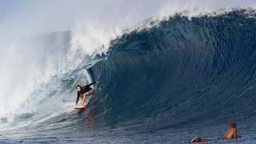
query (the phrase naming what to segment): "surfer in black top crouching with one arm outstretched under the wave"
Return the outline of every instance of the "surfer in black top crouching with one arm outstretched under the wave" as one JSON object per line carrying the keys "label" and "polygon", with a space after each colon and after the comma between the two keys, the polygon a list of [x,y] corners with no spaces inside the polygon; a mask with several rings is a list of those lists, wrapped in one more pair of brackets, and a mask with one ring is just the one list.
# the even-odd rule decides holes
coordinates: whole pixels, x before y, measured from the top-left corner
{"label": "surfer in black top crouching with one arm outstretched under the wave", "polygon": [[92,82],[86,86],[77,86],[78,98],[74,106],[77,106],[79,98],[82,98],[81,106],[85,106],[84,103],[86,102],[86,96],[94,94],[94,90],[90,86],[94,85],[95,83],[99,83],[99,81],[97,80],[96,82]]}

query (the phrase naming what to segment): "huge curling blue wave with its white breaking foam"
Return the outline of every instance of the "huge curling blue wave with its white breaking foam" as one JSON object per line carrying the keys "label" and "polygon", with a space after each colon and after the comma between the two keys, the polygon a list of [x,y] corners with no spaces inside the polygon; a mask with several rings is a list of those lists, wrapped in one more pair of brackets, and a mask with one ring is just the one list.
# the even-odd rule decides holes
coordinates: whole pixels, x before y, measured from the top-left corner
{"label": "huge curling blue wave with its white breaking foam", "polygon": [[[252,8],[190,18],[174,14],[162,21],[148,19],[146,26],[120,35],[94,57],[71,48],[73,55],[62,59],[63,51],[57,51],[62,64],[54,66],[63,67],[22,102],[22,114],[16,110],[12,120],[2,118],[2,126],[27,130],[24,135],[107,130],[116,136],[178,134],[208,126],[212,132],[205,135],[218,137],[214,127],[230,120],[254,123],[255,16]],[[66,35],[61,44],[77,42],[69,32],[61,34]],[[88,108],[71,110],[74,87],[98,78]]]}

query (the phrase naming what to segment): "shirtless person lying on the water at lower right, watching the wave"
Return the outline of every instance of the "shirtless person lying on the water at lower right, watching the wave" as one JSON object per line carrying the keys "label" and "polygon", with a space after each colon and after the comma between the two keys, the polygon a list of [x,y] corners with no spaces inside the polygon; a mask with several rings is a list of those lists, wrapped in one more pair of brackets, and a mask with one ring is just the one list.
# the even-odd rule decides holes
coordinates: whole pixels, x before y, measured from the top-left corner
{"label": "shirtless person lying on the water at lower right, watching the wave", "polygon": [[[237,137],[237,128],[236,128],[236,122],[230,122],[230,128],[226,130],[226,134],[224,134],[224,138],[218,138],[218,139],[232,139],[232,138],[238,138]],[[206,142],[208,139],[206,138],[193,138],[190,142]]]}

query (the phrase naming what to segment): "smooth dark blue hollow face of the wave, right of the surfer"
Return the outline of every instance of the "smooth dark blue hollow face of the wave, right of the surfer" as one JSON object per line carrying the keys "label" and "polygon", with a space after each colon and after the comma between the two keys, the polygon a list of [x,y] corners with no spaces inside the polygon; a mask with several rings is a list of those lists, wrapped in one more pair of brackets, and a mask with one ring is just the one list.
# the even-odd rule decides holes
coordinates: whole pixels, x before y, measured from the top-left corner
{"label": "smooth dark blue hollow face of the wave, right of the surfer", "polygon": [[105,99],[107,125],[137,133],[253,122],[253,16],[246,10],[176,15],[122,35],[112,42],[110,57],[90,69],[102,79],[92,104]]}

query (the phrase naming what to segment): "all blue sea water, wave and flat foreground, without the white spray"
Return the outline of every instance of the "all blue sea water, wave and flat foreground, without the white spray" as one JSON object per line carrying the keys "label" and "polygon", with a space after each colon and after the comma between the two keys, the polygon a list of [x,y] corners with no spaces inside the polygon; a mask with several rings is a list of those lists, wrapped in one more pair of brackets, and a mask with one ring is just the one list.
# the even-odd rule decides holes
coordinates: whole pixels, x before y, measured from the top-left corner
{"label": "all blue sea water, wave and flat foreground, without the white spray", "polygon": [[[123,34],[92,66],[62,79],[74,99],[82,70],[100,79],[85,110],[38,124],[35,114],[24,114],[1,132],[0,142],[188,143],[199,136],[206,143],[256,143],[255,16],[254,10],[177,14]],[[32,122],[15,128],[20,121]],[[230,121],[243,138],[217,140]]]}

